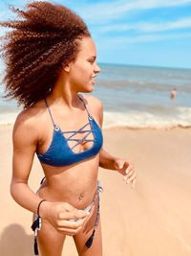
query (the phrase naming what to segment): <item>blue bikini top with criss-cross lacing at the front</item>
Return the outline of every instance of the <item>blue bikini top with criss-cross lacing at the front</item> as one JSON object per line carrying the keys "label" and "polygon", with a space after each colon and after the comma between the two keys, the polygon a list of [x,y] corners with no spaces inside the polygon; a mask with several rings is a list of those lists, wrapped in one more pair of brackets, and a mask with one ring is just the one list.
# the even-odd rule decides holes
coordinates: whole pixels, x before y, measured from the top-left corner
{"label": "blue bikini top with criss-cross lacing at the front", "polygon": [[[103,144],[101,129],[96,124],[95,119],[90,115],[82,98],[79,95],[78,97],[83,102],[85,109],[88,113],[88,123],[85,124],[82,128],[79,128],[77,130],[71,130],[71,131],[62,131],[57,125],[55,125],[50,106],[48,105],[45,99],[45,103],[47,105],[49,114],[53,122],[53,140],[51,142],[49,149],[46,152],[37,153],[37,157],[40,160],[40,162],[47,165],[56,166],[56,167],[67,166],[67,165],[71,165],[71,164],[80,162],[82,160],[85,160],[87,158],[90,158],[96,155],[100,151]],[[91,129],[86,128],[89,125]],[[71,135],[68,138],[66,138],[64,136],[65,133],[71,133]],[[83,138],[82,139],[74,138],[74,135],[76,133],[84,133]],[[94,139],[88,139],[88,136],[91,133],[93,133]],[[76,141],[76,144],[71,148],[69,146],[68,141]],[[85,142],[92,141],[93,146],[90,149],[85,151],[74,152],[73,149],[78,144],[84,141]]]}

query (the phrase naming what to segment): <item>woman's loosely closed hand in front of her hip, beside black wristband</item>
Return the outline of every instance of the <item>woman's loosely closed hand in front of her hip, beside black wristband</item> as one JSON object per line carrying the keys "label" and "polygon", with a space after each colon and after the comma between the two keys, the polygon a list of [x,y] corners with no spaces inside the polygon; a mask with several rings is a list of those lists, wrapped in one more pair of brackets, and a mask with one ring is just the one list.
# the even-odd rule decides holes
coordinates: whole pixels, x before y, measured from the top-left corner
{"label": "woman's loosely closed hand in front of her hip, beside black wristband", "polygon": [[[40,216],[43,220],[49,221],[53,227],[65,235],[74,236],[77,234],[89,213],[74,208],[67,202],[44,201],[40,206]],[[74,221],[75,219],[79,219]]]}

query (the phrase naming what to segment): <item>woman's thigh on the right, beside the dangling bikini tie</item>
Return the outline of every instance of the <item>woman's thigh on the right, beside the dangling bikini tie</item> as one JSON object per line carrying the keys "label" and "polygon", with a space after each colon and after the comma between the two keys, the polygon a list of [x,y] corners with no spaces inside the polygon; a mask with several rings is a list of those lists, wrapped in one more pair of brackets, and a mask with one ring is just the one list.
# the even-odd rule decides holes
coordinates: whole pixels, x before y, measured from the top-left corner
{"label": "woman's thigh on the right, beside the dangling bikini tie", "polygon": [[[92,215],[92,214],[91,214]],[[85,244],[93,233],[97,215],[97,201],[94,213],[85,223],[84,228],[74,236],[74,244],[79,256],[102,256],[101,221],[98,219],[93,244],[88,248]]]}

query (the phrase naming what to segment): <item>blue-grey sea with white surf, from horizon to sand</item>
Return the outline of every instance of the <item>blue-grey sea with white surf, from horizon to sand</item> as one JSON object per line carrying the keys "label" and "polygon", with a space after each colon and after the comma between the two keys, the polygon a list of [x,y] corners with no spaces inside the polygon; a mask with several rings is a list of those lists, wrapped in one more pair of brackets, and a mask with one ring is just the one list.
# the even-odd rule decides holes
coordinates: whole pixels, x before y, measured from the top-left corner
{"label": "blue-grey sea with white surf, from horizon to sand", "polygon": [[[103,128],[190,128],[191,69],[99,64],[92,92],[104,107]],[[3,73],[1,73],[1,78]],[[176,88],[172,100],[170,93]],[[22,110],[3,98],[0,84],[0,124],[13,124]]]}

